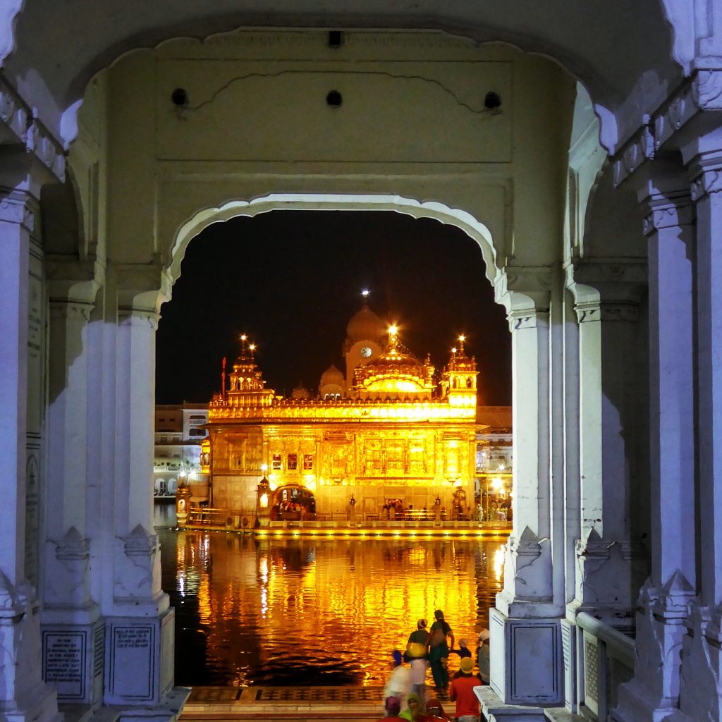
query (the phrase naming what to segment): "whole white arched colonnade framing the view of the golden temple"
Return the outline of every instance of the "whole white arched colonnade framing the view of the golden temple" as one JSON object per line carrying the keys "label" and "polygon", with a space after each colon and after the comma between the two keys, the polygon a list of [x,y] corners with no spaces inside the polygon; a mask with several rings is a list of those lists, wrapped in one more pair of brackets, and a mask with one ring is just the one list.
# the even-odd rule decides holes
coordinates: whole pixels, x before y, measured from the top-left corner
{"label": "whole white arched colonnade framing the view of the golden temple", "polygon": [[513,345],[495,719],[720,717],[717,0],[0,9],[8,719],[180,707],[155,328],[199,231],[276,209],[482,248]]}

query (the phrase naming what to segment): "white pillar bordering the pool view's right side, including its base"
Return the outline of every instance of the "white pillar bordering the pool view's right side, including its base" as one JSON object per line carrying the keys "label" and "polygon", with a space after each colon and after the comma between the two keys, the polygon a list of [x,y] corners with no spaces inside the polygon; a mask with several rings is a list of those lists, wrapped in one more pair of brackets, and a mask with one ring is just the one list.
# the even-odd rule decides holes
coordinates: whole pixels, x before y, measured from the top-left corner
{"label": "white pillar bordering the pool view's right side, including its base", "polygon": [[[552,288],[552,278],[549,268],[507,269],[496,287],[512,334],[514,498],[504,589],[490,615],[491,686],[514,704],[562,700],[563,495],[555,498],[552,469],[563,453],[563,425],[553,439],[551,427],[552,418],[562,417],[556,380],[563,376],[553,362],[561,357],[563,335],[549,324],[562,284]],[[562,483],[561,475],[556,480]],[[560,542],[556,549],[552,536]]]}

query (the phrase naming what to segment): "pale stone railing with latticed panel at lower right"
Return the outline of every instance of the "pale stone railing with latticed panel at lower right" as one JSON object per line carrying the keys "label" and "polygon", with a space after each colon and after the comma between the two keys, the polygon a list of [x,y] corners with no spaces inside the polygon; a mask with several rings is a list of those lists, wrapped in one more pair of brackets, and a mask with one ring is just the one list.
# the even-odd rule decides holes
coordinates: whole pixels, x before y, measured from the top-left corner
{"label": "pale stone railing with latticed panel at lower right", "polygon": [[634,639],[586,612],[577,614],[576,624],[579,712],[585,718],[606,722],[617,706],[617,688],[634,674]]}

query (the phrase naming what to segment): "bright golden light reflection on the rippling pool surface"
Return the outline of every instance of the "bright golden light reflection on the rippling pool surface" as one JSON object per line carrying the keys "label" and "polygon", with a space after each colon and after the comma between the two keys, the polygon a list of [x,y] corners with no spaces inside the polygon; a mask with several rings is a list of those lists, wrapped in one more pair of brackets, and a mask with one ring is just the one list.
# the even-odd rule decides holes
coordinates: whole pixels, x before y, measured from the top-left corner
{"label": "bright golden light reflection on the rippling pool surface", "polygon": [[[275,529],[265,531],[260,547],[226,547],[225,537],[208,535],[206,542],[199,534],[193,543],[196,567],[188,565],[182,573],[177,567],[183,592],[175,593],[177,603],[185,600],[178,606],[179,614],[196,614],[188,628],[199,625],[196,630],[206,640],[207,656],[198,664],[208,666],[210,677],[219,674],[219,684],[270,679],[277,674],[273,659],[287,651],[289,638],[295,638],[308,664],[320,660],[328,666],[324,675],[334,674],[338,664],[342,674],[352,674],[355,684],[383,685],[388,650],[403,647],[416,620],[428,618],[433,609],[444,609],[455,632],[469,634],[479,625],[488,626],[484,612],[479,612],[479,594],[485,603],[499,591],[496,580],[504,556],[496,553],[495,542],[479,544],[474,534],[450,543],[443,533],[425,529],[416,530],[415,540],[402,541],[393,538],[391,529],[367,531],[364,541],[360,534],[359,539],[344,534],[327,541],[325,529],[313,539],[303,539],[302,533],[302,539],[279,540]],[[206,550],[208,561],[199,559]],[[191,544],[185,554],[188,559]],[[479,565],[480,556],[487,557],[488,567]],[[492,560],[500,565],[492,568]],[[434,573],[418,574],[427,568]],[[196,601],[193,596],[197,604],[190,604]],[[183,625],[185,629],[188,622]],[[326,651],[313,650],[319,630],[329,645],[354,650],[350,671],[347,661],[329,661]],[[248,646],[249,635],[258,638],[263,654],[257,649],[240,651]]]}

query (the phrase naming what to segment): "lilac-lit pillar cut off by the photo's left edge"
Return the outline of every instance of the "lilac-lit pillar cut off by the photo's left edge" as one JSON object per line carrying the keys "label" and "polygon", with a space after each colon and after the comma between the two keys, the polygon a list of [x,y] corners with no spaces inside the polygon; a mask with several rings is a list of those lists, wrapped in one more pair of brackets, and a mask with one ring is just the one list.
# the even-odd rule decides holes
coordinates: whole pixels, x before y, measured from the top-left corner
{"label": "lilac-lit pillar cut off by the photo's left edge", "polygon": [[24,191],[0,188],[0,708],[10,722],[60,719],[56,693],[41,676],[38,602],[25,578],[28,276],[36,208]]}

